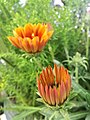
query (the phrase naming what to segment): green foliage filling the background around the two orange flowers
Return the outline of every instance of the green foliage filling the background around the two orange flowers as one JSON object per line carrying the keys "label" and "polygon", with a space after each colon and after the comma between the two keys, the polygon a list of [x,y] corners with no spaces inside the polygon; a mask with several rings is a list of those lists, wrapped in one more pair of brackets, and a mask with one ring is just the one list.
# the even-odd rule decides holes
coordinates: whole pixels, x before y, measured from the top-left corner
{"label": "green foliage filling the background around the two orange flowers", "polygon": [[[19,0],[0,1],[0,59],[4,61],[0,63],[0,91],[4,90],[6,100],[15,104],[5,109],[18,111],[15,120],[89,120],[90,37],[86,19],[89,1],[65,0],[62,8],[52,7],[50,2],[27,0],[22,6]],[[41,53],[25,53],[7,40],[17,26],[38,22],[49,22],[54,28],[53,37]],[[53,66],[53,61],[67,67],[72,78],[70,96],[57,108],[37,99],[36,77],[46,66]]]}

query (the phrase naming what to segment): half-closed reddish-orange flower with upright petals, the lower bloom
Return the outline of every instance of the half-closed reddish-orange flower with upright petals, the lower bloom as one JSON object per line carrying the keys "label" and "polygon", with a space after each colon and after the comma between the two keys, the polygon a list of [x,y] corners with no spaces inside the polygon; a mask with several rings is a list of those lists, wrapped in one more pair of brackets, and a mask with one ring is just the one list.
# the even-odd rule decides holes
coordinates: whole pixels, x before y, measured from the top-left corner
{"label": "half-closed reddish-orange flower with upright petals, the lower bloom", "polygon": [[71,89],[71,78],[68,70],[54,64],[42,70],[37,79],[40,96],[49,105],[60,105],[68,97]]}

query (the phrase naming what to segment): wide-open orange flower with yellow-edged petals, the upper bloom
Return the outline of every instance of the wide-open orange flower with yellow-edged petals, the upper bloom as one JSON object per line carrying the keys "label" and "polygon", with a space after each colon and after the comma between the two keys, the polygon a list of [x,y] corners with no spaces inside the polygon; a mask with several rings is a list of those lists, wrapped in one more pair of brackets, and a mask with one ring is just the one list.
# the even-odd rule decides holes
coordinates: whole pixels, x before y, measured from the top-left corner
{"label": "wide-open orange flower with yellow-edged petals, the upper bloom", "polygon": [[14,37],[9,36],[8,40],[17,48],[29,53],[36,53],[43,49],[53,34],[50,24],[26,24],[13,31]]}

